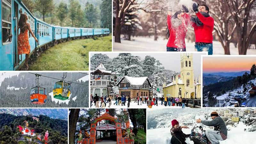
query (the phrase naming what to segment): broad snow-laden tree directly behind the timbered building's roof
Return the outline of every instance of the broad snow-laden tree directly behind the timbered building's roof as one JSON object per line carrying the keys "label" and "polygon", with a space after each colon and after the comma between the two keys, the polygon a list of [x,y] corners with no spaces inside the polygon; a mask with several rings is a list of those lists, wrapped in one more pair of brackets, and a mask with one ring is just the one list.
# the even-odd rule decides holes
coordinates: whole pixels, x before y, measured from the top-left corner
{"label": "broad snow-laden tree directly behind the timbered building's roof", "polygon": [[124,76],[143,76],[143,65],[139,56],[133,56],[131,53],[119,53],[111,63],[111,69]]}

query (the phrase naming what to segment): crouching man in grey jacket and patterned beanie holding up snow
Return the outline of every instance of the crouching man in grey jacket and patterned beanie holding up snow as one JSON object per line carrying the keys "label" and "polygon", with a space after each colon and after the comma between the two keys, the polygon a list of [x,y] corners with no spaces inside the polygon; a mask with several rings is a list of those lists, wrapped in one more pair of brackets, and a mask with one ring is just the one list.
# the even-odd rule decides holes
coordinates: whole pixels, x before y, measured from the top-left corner
{"label": "crouching man in grey jacket and patterned beanie holding up snow", "polygon": [[205,135],[211,141],[212,144],[219,144],[219,140],[226,140],[228,131],[223,119],[219,117],[217,112],[211,113],[212,121],[202,121],[200,118],[196,120],[196,123],[202,123],[206,126],[214,126],[214,130],[206,130]]}

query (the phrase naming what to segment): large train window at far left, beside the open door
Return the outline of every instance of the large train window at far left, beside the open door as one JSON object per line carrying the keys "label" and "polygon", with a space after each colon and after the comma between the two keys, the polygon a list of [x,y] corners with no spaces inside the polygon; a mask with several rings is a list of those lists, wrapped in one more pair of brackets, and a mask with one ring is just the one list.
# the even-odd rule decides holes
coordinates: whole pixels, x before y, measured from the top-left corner
{"label": "large train window at far left, beside the open door", "polygon": [[12,41],[12,11],[11,2],[2,0],[2,42],[10,43]]}

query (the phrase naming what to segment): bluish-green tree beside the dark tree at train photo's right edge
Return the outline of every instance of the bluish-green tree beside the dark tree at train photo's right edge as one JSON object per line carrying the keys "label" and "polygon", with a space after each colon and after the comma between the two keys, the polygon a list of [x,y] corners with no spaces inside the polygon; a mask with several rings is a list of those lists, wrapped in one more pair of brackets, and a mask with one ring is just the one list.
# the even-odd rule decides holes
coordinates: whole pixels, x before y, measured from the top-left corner
{"label": "bluish-green tree beside the dark tree at train photo's right edge", "polygon": [[85,6],[85,18],[86,20],[90,23],[90,27],[92,28],[94,25],[97,25],[96,22],[99,18],[99,10],[94,7],[92,4],[90,4],[89,2],[86,3]]}

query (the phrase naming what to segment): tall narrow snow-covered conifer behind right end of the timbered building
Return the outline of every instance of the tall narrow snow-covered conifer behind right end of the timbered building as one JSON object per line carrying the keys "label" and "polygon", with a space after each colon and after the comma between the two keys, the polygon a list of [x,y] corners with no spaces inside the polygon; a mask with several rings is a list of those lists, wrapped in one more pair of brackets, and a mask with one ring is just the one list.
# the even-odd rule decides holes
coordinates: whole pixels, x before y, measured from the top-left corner
{"label": "tall narrow snow-covered conifer behind right end of the timbered building", "polygon": [[143,63],[144,76],[148,76],[148,77],[151,76],[156,69],[155,67],[156,59],[154,57],[147,55],[142,63]]}

